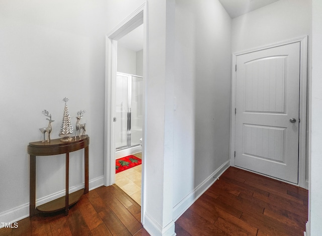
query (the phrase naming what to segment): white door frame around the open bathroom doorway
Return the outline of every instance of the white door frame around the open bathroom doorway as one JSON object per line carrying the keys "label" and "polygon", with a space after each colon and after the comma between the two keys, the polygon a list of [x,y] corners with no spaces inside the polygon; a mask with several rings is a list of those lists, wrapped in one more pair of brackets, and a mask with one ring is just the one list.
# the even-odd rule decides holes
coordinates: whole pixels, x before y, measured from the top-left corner
{"label": "white door frame around the open bathroom doorway", "polygon": [[143,3],[124,21],[117,25],[106,35],[105,54],[105,126],[104,126],[104,185],[115,183],[115,141],[114,122],[115,116],[115,91],[117,74],[117,41],[143,24],[143,126],[142,126],[142,190],[141,190],[141,222],[144,224],[145,206],[145,137],[146,137],[146,81],[147,81],[147,6]]}

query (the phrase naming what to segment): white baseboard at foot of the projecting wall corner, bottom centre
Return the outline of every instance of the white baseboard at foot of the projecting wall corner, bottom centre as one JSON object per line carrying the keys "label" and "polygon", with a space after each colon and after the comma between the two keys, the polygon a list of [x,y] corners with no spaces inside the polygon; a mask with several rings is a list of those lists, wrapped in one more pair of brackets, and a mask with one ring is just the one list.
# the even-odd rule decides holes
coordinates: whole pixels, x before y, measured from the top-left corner
{"label": "white baseboard at foot of the projecting wall corner, bottom centre", "polygon": [[147,213],[144,214],[144,229],[153,236],[175,236],[175,221],[162,228]]}

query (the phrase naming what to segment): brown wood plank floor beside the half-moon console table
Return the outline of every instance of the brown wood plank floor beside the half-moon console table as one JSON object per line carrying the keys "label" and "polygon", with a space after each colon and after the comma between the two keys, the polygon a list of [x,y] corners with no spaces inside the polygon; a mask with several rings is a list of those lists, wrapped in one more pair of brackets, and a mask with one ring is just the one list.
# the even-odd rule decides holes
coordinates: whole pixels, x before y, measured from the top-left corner
{"label": "brown wood plank floor beside the half-moon console table", "polygon": [[142,227],[141,206],[116,185],[102,186],[82,196],[69,214],[40,213],[0,228],[0,235],[149,235]]}

